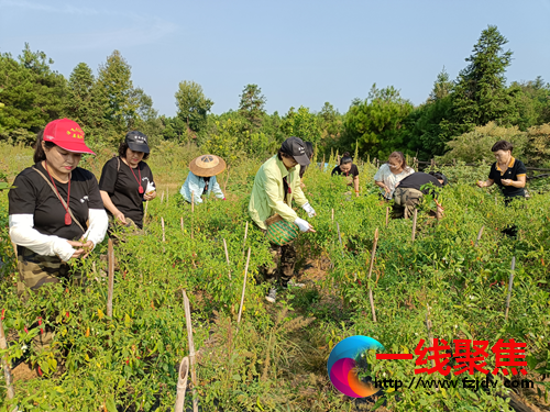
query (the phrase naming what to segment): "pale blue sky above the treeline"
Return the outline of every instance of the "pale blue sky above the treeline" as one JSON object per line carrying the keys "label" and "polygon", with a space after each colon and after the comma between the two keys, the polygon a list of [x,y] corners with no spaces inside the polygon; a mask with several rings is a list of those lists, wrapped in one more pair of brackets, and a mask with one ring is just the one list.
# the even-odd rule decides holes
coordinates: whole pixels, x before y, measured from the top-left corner
{"label": "pale blue sky above the treeline", "polygon": [[67,78],[97,74],[114,49],[160,114],[191,80],[220,114],[258,85],[268,113],[330,102],[341,113],[376,83],[420,104],[443,67],[451,79],[487,25],[508,40],[508,82],[550,81],[550,0],[57,1],[0,0],[0,53],[25,42]]}

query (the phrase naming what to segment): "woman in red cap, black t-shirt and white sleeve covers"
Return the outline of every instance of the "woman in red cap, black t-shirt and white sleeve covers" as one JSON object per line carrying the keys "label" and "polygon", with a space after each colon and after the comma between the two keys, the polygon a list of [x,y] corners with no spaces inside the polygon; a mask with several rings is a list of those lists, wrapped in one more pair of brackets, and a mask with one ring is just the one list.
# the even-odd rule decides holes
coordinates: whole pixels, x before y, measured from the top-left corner
{"label": "woman in red cap, black t-shirt and white sleeve covers", "polygon": [[78,166],[80,126],[55,120],[36,136],[35,165],[21,171],[8,194],[10,237],[18,249],[18,291],[36,290],[68,277],[72,258],[87,257],[107,231],[96,177]]}

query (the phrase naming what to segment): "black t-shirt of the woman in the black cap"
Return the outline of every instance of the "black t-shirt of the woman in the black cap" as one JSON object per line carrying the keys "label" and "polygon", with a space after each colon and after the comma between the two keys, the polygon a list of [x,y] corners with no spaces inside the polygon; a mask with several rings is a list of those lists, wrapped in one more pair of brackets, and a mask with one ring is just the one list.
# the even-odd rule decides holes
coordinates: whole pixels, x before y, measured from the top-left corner
{"label": "black t-shirt of the woman in the black cap", "polygon": [[[153,180],[153,172],[145,162],[140,162],[135,169],[131,169],[122,159],[120,168],[117,171],[119,159],[113,157],[107,162],[99,179],[99,190],[109,193],[112,203],[120,210],[125,218],[134,221],[138,227],[143,227],[143,196],[147,189],[147,182]],[[140,180],[143,187],[143,194],[140,194]],[[107,210],[109,215],[112,215]]]}

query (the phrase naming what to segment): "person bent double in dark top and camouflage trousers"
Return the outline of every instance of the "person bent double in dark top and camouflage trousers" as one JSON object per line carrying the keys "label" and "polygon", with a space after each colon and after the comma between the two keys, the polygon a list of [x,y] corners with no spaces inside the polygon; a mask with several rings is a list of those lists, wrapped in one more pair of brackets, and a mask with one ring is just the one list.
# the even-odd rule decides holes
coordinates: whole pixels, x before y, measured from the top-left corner
{"label": "person bent double in dark top and camouflage trousers", "polygon": [[[394,218],[410,218],[416,207],[421,203],[424,196],[433,193],[431,188],[422,189],[422,186],[433,183],[433,186],[441,188],[447,182],[447,177],[439,171],[430,171],[429,174],[417,171],[407,176],[397,183],[394,191]],[[437,193],[433,194],[437,204],[436,215],[440,219],[443,215],[443,207],[438,203]]]}

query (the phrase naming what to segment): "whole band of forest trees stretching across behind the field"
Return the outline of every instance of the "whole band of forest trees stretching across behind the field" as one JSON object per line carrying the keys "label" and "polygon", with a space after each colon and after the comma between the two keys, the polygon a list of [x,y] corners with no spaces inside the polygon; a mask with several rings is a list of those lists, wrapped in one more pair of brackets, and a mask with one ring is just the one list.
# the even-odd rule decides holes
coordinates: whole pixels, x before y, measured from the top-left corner
{"label": "whole band of forest trees stretching across behind the field", "polygon": [[319,111],[300,107],[268,114],[261,87],[245,85],[235,110],[213,114],[215,102],[201,86],[183,80],[173,118],[160,115],[152,98],[134,87],[120,52],[108,56],[96,74],[79,63],[67,79],[52,69],[44,52],[25,44],[18,57],[0,54],[0,141],[32,145],[50,121],[67,116],[82,126],[94,149],[114,148],[128,131],[140,130],[153,146],[193,143],[229,164],[265,158],[294,135],[312,142],[327,158],[338,151],[384,160],[402,151],[425,160],[469,163],[493,160],[491,146],[504,138],[515,144],[515,156],[526,165],[549,167],[550,83],[540,76],[508,83],[513,52],[506,44],[496,26],[487,26],[458,78],[451,79],[443,67],[419,105],[392,86],[374,83],[346,113],[326,102]]}

